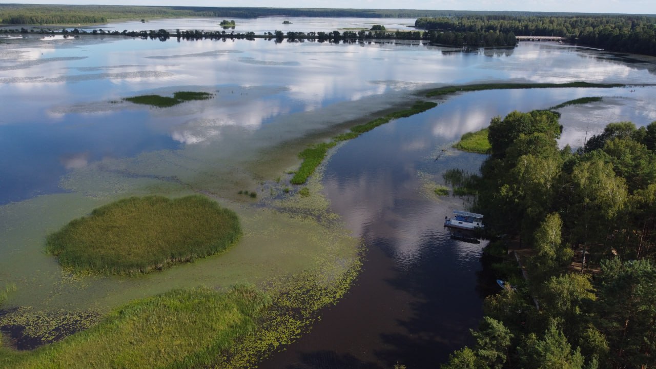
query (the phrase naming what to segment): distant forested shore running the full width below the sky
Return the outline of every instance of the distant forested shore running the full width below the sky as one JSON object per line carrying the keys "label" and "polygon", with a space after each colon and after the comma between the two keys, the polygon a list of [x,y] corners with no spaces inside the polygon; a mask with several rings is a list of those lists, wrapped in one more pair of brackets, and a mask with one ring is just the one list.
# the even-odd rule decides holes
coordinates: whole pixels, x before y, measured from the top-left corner
{"label": "distant forested shore running the full width below the sky", "polygon": [[[474,12],[407,9],[300,9],[246,7],[136,7],[108,5],[0,5],[0,24],[102,24],[119,19],[157,17],[322,16],[417,18],[417,32],[326,32],[325,36],[288,32],[290,39],[421,39],[457,47],[514,47],[516,36],[560,36],[607,51],[656,55],[656,16],[546,12]],[[169,30],[170,32],[171,30]],[[196,34],[187,37],[198,38]],[[5,30],[7,32],[7,30]],[[26,31],[30,32],[30,31]],[[140,31],[143,32],[143,31]],[[152,31],[155,32],[155,31]],[[185,32],[189,32],[186,30]],[[149,33],[149,32],[146,32]],[[248,30],[239,33],[246,35]],[[140,35],[143,36],[143,35]],[[148,36],[148,35],[146,35]],[[265,35],[266,36],[266,35]],[[178,35],[178,37],[180,37]],[[237,37],[239,37],[237,35]],[[249,35],[253,37],[253,35]],[[262,35],[258,35],[262,37]]]}

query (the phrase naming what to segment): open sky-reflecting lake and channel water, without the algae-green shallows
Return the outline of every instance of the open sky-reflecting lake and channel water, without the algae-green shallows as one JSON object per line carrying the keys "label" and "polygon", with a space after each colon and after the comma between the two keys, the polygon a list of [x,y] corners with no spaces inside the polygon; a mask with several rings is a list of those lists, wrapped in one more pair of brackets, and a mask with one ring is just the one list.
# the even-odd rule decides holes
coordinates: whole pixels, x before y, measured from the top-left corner
{"label": "open sky-reflecting lake and channel water, without the algae-green shallows", "polygon": [[[413,22],[289,20],[303,32],[365,22],[400,28]],[[281,22],[237,20],[239,28],[253,32],[283,29]],[[210,30],[213,23],[218,27],[215,19],[156,20],[144,27]],[[138,30],[140,24],[104,29]],[[307,117],[330,111],[357,118],[360,110],[373,109],[373,102],[396,101],[422,88],[489,81],[656,83],[652,58],[552,43],[462,51],[419,43],[263,39],[0,41],[0,205],[63,191],[62,177],[76,178],[78,172],[109,162],[144,175],[150,175],[152,165],[159,175],[173,176],[181,170],[173,156],[188,162],[211,157],[203,164],[211,168],[220,165],[216,158],[228,160],[236,152],[233,146],[247,156],[291,135],[325,128]],[[122,100],[181,90],[215,97],[165,110]],[[312,333],[261,367],[390,368],[397,361],[409,368],[436,367],[467,342],[493,278],[482,274],[484,244],[451,240],[441,226],[451,210],[466,207],[463,200],[436,200],[422,190],[441,183],[441,173],[449,168],[478,169],[483,156],[451,150],[451,142],[512,110],[604,97],[561,110],[565,129],[560,144],[581,146],[586,135],[611,121],[655,121],[655,92],[653,87],[631,87],[467,93],[346,142],[328,163],[323,185],[346,227],[368,246],[364,270],[343,301],[322,312]],[[440,156],[441,150],[446,152]],[[224,156],[208,154],[216,152]]]}

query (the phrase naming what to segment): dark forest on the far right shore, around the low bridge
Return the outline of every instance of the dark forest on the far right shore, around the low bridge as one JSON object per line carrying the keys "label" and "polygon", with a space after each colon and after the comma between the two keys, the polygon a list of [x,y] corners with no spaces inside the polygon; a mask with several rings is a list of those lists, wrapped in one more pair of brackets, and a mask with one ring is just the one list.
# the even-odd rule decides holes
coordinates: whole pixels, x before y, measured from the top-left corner
{"label": "dark forest on the far right shore, around the low bridge", "polygon": [[[508,16],[471,15],[436,18],[418,18],[415,27],[427,30],[426,38],[438,43],[440,37],[460,38],[488,33],[499,37],[514,35],[560,36],[572,43],[598,47],[607,51],[621,51],[656,55],[656,16],[638,15],[573,15],[567,16]],[[471,37],[471,36],[470,36]]]}

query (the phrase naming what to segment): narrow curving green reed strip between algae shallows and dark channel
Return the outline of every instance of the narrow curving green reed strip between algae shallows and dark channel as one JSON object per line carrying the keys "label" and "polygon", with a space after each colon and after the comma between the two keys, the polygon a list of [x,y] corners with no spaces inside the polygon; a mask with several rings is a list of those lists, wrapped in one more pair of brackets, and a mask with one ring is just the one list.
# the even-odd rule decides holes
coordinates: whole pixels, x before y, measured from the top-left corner
{"label": "narrow curving green reed strip between algae shallows and dark channel", "polygon": [[306,181],[308,181],[308,177],[314,173],[314,169],[316,169],[316,167],[318,167],[318,165],[323,161],[323,158],[325,158],[328,149],[335,146],[337,142],[355,139],[362,133],[371,131],[372,129],[379,127],[379,125],[388,123],[392,119],[407,118],[409,116],[425,112],[426,110],[434,108],[437,105],[438,104],[435,102],[417,101],[410,108],[392,112],[386,116],[368,121],[367,123],[351,127],[350,132],[342,133],[341,135],[333,137],[333,141],[331,142],[322,142],[320,144],[311,146],[310,148],[306,148],[300,152],[300,154],[298,154],[298,157],[301,158],[303,162],[300,164],[300,168],[291,179],[291,184],[302,185],[303,183],[306,183]]}

